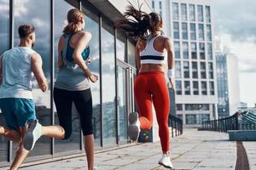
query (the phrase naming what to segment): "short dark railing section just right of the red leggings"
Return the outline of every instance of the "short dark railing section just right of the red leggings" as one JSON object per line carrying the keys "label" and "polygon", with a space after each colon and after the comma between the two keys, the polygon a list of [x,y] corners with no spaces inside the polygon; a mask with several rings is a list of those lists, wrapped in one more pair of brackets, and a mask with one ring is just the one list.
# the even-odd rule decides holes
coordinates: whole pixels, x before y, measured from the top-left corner
{"label": "short dark railing section just right of the red leggings", "polygon": [[169,115],[169,127],[172,127],[172,138],[183,134],[183,121],[177,116]]}

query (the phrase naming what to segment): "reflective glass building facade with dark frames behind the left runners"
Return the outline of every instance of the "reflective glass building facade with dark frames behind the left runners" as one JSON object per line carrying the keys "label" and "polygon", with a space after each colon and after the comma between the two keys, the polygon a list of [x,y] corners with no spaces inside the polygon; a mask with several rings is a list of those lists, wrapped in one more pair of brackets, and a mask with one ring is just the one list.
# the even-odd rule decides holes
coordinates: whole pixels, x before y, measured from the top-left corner
{"label": "reflective glass building facade with dark frames behind the left runners", "polygon": [[[39,8],[38,8],[39,7]],[[102,14],[92,3],[76,0],[0,0],[0,54],[19,44],[18,26],[36,28],[34,50],[41,54],[44,74],[49,82],[45,93],[32,82],[37,116],[43,125],[58,124],[52,98],[57,71],[57,43],[67,25],[67,11],[80,8],[85,17],[85,31],[90,31],[90,71],[100,80],[91,83],[93,126],[96,150],[127,144],[127,115],[135,110],[132,84],[136,75],[133,40],[114,28],[113,19]],[[43,137],[26,161],[50,159],[83,152],[79,116],[73,106],[73,134],[70,139]],[[0,112],[0,124],[4,125]],[[0,167],[9,166],[17,144],[0,136]]]}

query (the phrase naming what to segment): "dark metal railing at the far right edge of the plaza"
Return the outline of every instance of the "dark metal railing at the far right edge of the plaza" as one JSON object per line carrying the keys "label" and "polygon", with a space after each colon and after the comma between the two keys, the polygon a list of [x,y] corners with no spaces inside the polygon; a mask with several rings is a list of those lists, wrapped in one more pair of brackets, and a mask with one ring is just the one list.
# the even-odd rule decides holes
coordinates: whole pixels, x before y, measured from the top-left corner
{"label": "dark metal railing at the far right edge of the plaza", "polygon": [[224,133],[228,130],[256,130],[256,114],[249,111],[236,112],[233,116],[205,121],[201,124],[201,130]]}

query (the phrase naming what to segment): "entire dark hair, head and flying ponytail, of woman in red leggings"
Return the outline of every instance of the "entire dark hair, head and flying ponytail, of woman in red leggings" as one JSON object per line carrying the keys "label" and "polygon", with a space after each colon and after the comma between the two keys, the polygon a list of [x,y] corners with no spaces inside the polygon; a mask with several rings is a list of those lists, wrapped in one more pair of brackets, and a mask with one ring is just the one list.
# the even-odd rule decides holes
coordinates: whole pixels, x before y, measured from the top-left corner
{"label": "entire dark hair, head and flying ponytail, of woman in red leggings", "polygon": [[145,13],[141,10],[142,5],[139,5],[137,9],[130,3],[122,19],[116,22],[115,26],[125,31],[129,37],[146,39],[148,31],[152,34],[160,31],[160,24],[162,23],[160,14]]}

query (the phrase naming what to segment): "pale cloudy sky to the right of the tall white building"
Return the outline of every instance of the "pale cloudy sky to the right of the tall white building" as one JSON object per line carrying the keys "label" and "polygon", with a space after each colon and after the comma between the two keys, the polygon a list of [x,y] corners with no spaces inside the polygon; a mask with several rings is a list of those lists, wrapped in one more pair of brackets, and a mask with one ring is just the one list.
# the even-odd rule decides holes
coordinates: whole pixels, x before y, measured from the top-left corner
{"label": "pale cloudy sky to the right of the tall white building", "polygon": [[241,101],[256,104],[256,1],[212,0],[215,35],[238,58]]}

